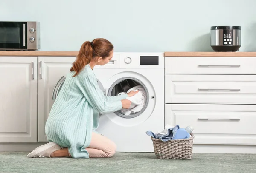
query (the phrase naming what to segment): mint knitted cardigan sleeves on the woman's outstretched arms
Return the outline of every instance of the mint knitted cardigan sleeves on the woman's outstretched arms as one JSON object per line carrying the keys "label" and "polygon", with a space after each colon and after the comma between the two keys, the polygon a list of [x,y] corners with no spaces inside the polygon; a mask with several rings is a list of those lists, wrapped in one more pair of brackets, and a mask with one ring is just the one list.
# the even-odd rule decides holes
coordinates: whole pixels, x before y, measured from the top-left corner
{"label": "mint knitted cardigan sleeves on the woman's outstretched arms", "polygon": [[127,94],[113,97],[104,96],[97,84],[96,77],[92,75],[86,75],[82,79],[80,89],[93,109],[99,113],[110,113],[122,109],[121,100],[127,97]]}

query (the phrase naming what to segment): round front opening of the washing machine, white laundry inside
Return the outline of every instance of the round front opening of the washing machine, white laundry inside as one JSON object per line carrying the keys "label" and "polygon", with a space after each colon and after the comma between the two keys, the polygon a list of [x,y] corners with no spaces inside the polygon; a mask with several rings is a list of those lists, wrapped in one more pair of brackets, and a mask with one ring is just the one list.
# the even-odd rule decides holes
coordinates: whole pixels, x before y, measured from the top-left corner
{"label": "round front opening of the washing machine, white laundry inside", "polygon": [[132,107],[106,114],[112,122],[122,126],[133,126],[144,122],[151,116],[156,105],[156,94],[153,85],[145,76],[133,71],[124,71],[111,77],[107,82],[107,86],[107,96],[125,94],[133,90],[133,88],[139,88],[139,91],[140,88],[144,89],[141,90],[143,104],[135,106],[140,108]]}

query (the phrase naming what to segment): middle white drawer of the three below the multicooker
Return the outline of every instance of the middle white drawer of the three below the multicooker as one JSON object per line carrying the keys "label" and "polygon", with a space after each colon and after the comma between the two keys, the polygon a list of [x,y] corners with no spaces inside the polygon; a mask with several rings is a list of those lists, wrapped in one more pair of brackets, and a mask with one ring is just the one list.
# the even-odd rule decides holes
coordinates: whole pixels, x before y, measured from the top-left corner
{"label": "middle white drawer of the three below the multicooker", "polygon": [[166,103],[256,104],[256,75],[165,75]]}

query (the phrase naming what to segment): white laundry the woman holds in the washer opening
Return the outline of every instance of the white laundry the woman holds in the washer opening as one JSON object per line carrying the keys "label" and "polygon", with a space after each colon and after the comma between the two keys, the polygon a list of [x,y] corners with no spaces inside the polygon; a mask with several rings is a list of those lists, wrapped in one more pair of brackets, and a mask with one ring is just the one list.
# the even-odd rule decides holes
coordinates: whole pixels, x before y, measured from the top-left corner
{"label": "white laundry the woman holds in the washer opening", "polygon": [[139,90],[139,92],[134,96],[126,97],[126,99],[131,101],[131,106],[129,109],[124,109],[124,108],[121,109],[121,113],[123,113],[124,115],[128,116],[128,115],[140,112],[142,110],[146,102],[146,92],[143,86],[138,85],[133,88],[130,88],[126,93],[122,92],[118,94],[118,95],[127,94],[130,91],[137,91],[137,90]]}

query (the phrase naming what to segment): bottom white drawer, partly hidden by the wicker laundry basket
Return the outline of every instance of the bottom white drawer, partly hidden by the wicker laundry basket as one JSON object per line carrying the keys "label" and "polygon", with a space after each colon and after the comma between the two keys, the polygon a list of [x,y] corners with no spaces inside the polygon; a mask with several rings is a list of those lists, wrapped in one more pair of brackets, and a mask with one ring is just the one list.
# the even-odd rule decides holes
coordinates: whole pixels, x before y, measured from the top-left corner
{"label": "bottom white drawer, partly hidden by the wicker laundry basket", "polygon": [[194,128],[196,144],[256,144],[256,105],[166,104],[166,124]]}

